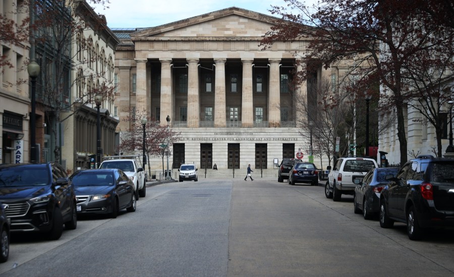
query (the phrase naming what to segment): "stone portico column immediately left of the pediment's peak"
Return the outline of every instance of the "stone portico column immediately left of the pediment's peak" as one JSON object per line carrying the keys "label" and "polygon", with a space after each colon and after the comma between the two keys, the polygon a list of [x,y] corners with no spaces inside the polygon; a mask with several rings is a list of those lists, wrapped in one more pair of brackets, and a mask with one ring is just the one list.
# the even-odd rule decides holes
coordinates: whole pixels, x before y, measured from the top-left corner
{"label": "stone portico column immediately left of the pediment's peak", "polygon": [[214,127],[226,126],[225,115],[225,61],[226,58],[214,59],[216,63],[214,79]]}

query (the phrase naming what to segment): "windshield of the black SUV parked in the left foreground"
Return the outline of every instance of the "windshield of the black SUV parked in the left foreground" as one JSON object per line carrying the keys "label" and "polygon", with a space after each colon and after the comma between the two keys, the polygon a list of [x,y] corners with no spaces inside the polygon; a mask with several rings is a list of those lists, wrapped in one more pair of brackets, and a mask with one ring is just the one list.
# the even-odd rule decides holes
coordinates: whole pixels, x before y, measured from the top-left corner
{"label": "windshield of the black SUV parked in the left foreground", "polygon": [[7,167],[0,170],[0,187],[41,186],[49,183],[49,174],[45,166]]}

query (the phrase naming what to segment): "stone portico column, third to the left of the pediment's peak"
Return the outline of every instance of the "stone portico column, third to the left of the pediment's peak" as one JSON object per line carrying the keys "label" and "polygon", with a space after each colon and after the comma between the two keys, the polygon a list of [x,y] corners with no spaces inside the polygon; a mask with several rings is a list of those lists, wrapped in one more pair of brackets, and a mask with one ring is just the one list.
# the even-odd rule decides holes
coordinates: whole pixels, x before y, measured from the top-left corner
{"label": "stone portico column, third to the left of the pediment's peak", "polygon": [[167,115],[174,121],[172,113],[172,59],[159,59],[161,62],[161,103],[160,103],[160,125],[167,125]]}

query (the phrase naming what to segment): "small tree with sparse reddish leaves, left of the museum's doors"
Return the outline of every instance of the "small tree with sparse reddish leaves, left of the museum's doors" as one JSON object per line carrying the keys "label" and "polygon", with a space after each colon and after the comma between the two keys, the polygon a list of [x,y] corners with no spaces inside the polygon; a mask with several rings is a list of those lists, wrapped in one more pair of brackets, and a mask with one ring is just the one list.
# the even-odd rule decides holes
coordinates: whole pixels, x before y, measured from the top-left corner
{"label": "small tree with sparse reddish leaves, left of the museum's doors", "polygon": [[[159,121],[148,117],[146,111],[130,111],[130,115],[123,121],[130,123],[130,128],[123,134],[120,149],[141,154],[143,149],[143,125],[142,118],[147,118],[145,125],[145,154],[147,161],[150,155],[159,156],[162,160],[162,176],[164,174],[164,157],[172,154],[172,145],[181,140],[181,132],[172,130],[169,126],[160,125]],[[163,147],[165,146],[165,147]],[[148,176],[151,176],[151,166],[148,162]]]}

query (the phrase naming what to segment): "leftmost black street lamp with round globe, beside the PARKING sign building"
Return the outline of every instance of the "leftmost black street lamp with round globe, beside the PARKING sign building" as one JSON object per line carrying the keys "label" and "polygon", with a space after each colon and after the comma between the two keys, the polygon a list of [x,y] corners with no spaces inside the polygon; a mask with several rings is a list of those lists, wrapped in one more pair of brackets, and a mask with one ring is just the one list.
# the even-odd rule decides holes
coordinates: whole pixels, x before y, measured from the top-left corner
{"label": "leftmost black street lamp with round globe, beside the PARKING sign building", "polygon": [[32,60],[28,66],[28,75],[31,78],[32,83],[32,99],[31,99],[31,114],[30,114],[30,162],[37,163],[38,157],[36,157],[36,78],[39,76],[40,71],[39,64]]}

